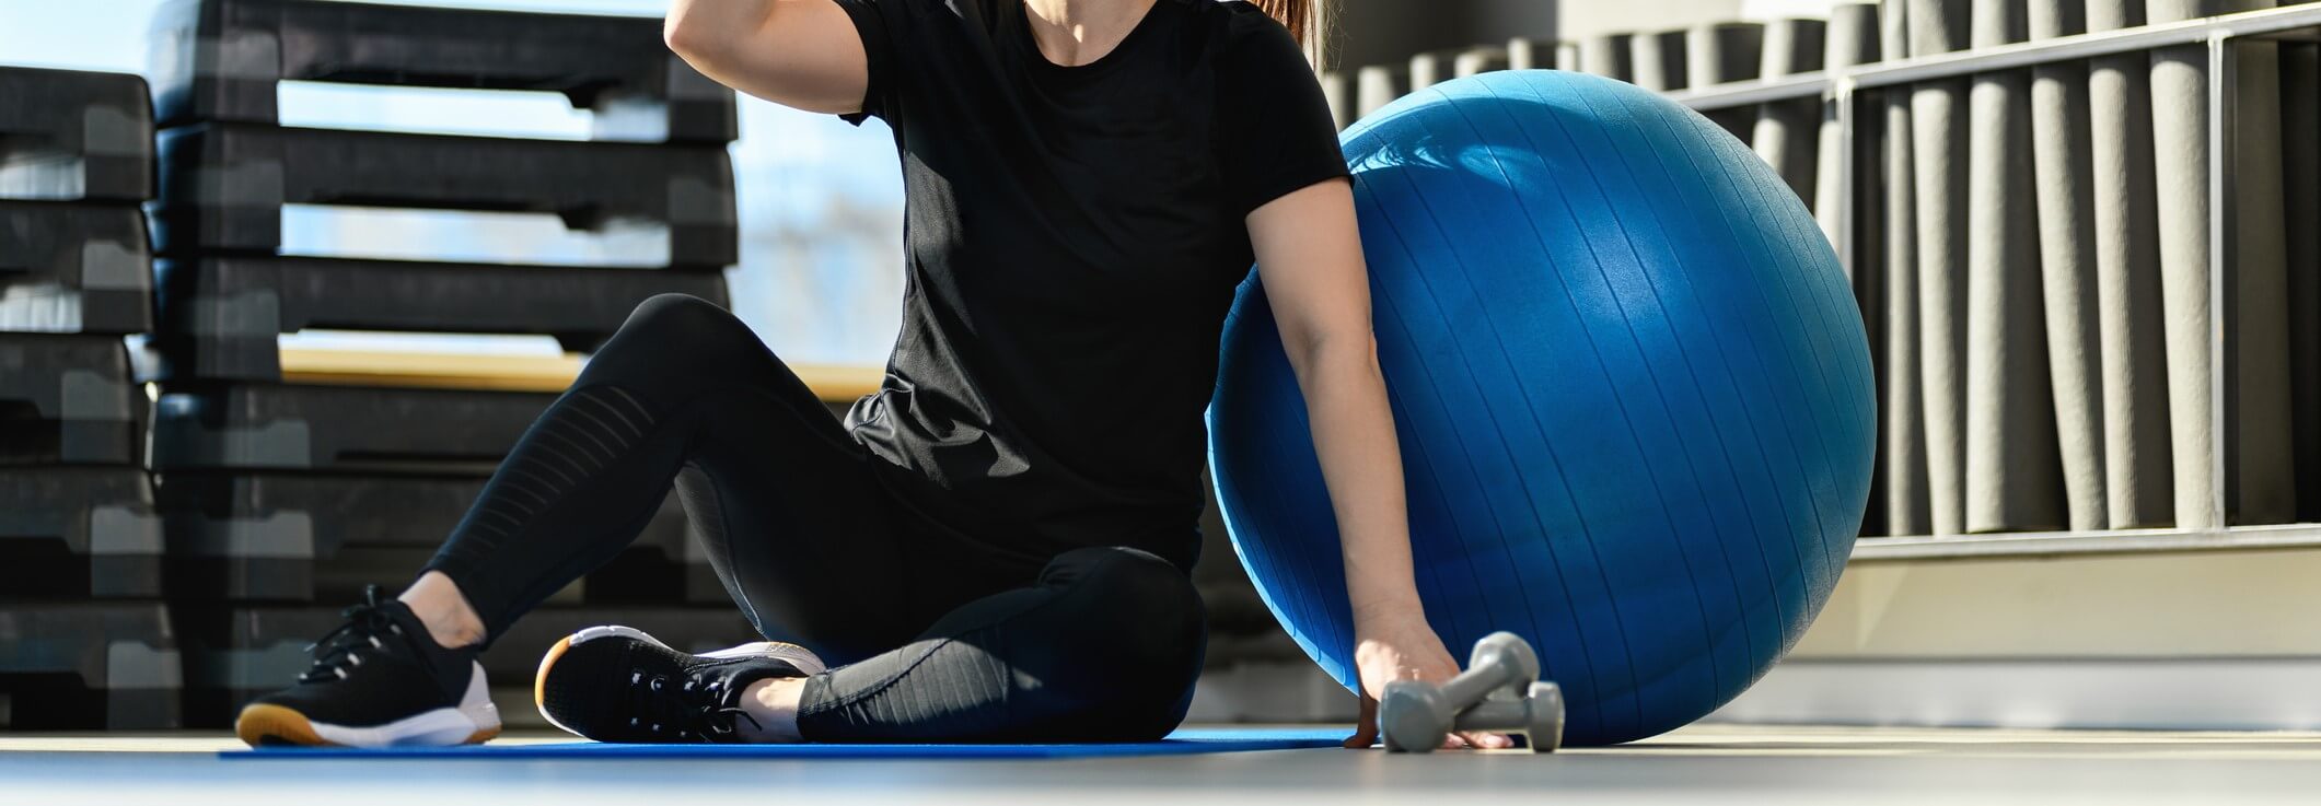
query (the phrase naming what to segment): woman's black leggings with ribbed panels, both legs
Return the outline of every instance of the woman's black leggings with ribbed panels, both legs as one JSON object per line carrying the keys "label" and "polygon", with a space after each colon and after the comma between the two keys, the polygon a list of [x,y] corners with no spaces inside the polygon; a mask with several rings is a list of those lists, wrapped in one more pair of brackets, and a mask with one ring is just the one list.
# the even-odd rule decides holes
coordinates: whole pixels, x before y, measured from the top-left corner
{"label": "woman's black leggings with ribbed panels, both legs", "polygon": [[508,453],[443,550],[497,636],[617,555],[671,481],[759,632],[840,664],[810,741],[1147,741],[1205,641],[1184,569],[1135,548],[1031,557],[914,511],[882,462],[724,309],[629,316]]}

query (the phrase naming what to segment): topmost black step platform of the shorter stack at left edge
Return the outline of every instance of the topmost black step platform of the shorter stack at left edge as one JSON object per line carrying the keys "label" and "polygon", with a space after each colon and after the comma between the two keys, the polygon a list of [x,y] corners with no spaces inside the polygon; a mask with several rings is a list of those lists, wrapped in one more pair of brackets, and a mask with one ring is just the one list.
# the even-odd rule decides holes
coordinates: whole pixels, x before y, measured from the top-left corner
{"label": "topmost black step platform of the shorter stack at left edge", "polygon": [[144,79],[0,67],[0,197],[153,197],[153,102]]}

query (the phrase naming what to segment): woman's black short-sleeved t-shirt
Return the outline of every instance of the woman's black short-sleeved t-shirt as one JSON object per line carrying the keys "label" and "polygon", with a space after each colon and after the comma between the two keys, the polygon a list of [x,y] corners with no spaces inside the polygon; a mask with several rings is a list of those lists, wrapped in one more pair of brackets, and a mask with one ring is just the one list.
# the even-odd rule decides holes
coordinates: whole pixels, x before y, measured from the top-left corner
{"label": "woman's black short-sleeved t-shirt", "polygon": [[905,183],[903,334],[847,416],[921,516],[1044,560],[1200,548],[1202,409],[1244,216],[1346,174],[1321,86],[1249,2],[1156,0],[1079,67],[1021,0],[838,0]]}

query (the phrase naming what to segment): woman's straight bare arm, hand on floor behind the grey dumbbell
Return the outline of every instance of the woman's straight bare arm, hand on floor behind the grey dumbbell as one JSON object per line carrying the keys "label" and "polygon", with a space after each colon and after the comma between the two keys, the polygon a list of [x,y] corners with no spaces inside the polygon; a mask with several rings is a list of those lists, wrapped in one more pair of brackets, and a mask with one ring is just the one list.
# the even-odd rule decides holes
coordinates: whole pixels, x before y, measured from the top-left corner
{"label": "woman's straight bare arm, hand on floor behind the grey dumbbell", "polygon": [[[1376,697],[1388,681],[1448,681],[1458,662],[1427,627],[1411,576],[1402,448],[1369,330],[1369,269],[1351,183],[1332,179],[1258,207],[1249,214],[1249,239],[1281,348],[1304,390],[1314,453],[1337,513],[1353,660],[1362,676],[1362,718],[1346,746],[1367,748],[1376,739]],[[1506,736],[1455,736],[1453,743],[1509,746]]]}

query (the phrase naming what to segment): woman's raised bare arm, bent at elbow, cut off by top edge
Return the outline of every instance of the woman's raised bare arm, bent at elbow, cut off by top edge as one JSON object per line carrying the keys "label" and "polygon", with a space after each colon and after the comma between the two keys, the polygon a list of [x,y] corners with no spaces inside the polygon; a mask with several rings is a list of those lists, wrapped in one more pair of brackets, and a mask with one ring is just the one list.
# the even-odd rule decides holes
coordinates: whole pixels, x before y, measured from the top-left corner
{"label": "woman's raised bare arm, bent at elbow, cut off by top edge", "polygon": [[870,63],[833,0],[675,0],[668,49],[736,91],[805,111],[861,111]]}

